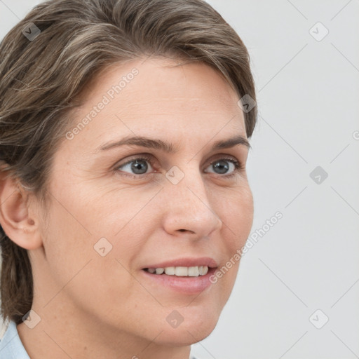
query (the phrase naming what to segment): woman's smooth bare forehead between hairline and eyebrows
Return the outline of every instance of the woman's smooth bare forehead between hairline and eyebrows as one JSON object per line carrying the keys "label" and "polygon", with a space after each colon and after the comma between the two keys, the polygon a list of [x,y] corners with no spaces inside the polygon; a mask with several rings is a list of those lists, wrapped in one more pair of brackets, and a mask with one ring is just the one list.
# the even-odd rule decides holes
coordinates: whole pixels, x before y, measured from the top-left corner
{"label": "woman's smooth bare forehead between hairline and eyebrows", "polygon": [[224,76],[203,62],[181,63],[152,57],[102,70],[74,111],[74,140],[98,145],[114,135],[144,133],[193,140],[198,133],[245,136],[238,95]]}

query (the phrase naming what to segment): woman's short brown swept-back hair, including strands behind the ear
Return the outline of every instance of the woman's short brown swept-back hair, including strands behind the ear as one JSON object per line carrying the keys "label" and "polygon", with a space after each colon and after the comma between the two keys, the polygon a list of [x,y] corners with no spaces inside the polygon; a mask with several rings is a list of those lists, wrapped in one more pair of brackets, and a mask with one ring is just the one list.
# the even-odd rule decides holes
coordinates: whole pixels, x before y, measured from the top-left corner
{"label": "woman's short brown swept-back hair, including strands behind the ear", "polygon": [[[29,27],[40,30],[29,39]],[[34,34],[34,33],[32,33]],[[234,29],[203,0],[50,0],[0,43],[0,174],[46,207],[52,158],[90,81],[116,63],[164,56],[216,69],[238,96],[256,99],[250,56]],[[250,137],[257,107],[245,111]],[[0,226],[1,316],[32,309],[32,266]]]}

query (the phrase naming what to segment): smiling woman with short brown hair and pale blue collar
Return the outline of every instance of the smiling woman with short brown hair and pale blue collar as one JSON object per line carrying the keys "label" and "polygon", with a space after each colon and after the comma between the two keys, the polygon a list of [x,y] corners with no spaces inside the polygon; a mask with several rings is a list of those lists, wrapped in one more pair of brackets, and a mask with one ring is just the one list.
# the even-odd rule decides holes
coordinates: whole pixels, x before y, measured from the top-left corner
{"label": "smiling woman with short brown hair and pale blue collar", "polygon": [[201,0],[52,0],[0,53],[0,358],[188,359],[252,226],[243,42]]}

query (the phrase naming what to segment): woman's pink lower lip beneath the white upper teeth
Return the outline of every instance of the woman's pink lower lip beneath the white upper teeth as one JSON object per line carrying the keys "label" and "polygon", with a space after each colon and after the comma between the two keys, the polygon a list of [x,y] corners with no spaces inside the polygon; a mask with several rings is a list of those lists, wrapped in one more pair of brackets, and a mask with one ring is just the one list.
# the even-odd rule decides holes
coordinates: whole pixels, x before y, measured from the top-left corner
{"label": "woman's pink lower lip beneath the white upper teeth", "polygon": [[145,278],[152,280],[154,283],[158,285],[162,285],[163,287],[168,287],[171,290],[175,290],[176,292],[184,293],[184,294],[199,294],[203,292],[203,290],[210,287],[212,282],[210,281],[210,276],[215,273],[215,268],[209,268],[207,274],[205,276],[198,277],[179,277],[179,276],[168,276],[167,274],[152,274],[143,269],[141,272],[143,273]]}

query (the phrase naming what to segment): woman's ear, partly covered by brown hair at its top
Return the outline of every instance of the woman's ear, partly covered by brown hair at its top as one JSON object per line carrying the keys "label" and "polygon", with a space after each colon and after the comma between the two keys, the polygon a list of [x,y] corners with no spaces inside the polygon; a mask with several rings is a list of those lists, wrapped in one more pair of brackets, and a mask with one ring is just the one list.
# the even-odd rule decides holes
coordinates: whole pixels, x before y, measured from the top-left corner
{"label": "woman's ear, partly covered by brown hair at its top", "polygon": [[0,172],[0,224],[6,236],[27,250],[41,247],[39,219],[34,211],[35,203],[29,201],[29,193],[18,179],[6,177]]}

